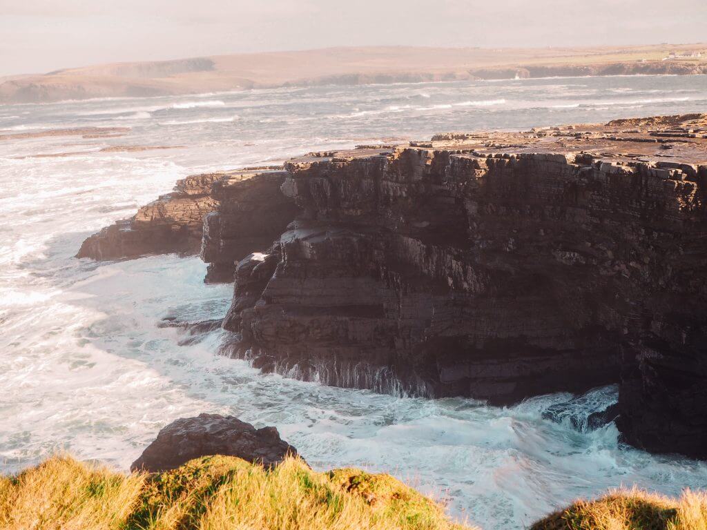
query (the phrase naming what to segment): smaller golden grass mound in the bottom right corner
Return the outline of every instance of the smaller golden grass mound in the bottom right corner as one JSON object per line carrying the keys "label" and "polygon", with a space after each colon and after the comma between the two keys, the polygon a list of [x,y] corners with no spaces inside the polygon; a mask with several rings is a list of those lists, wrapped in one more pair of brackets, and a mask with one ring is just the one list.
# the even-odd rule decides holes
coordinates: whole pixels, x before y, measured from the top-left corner
{"label": "smaller golden grass mound in the bottom right corner", "polygon": [[531,530],[707,530],[707,493],[684,490],[677,499],[633,488],[597,500],[578,500]]}

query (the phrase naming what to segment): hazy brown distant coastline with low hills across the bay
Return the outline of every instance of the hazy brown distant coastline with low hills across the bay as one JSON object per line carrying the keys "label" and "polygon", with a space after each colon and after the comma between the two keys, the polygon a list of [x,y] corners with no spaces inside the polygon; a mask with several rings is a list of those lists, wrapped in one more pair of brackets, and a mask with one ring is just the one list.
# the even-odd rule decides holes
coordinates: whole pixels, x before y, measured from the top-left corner
{"label": "hazy brown distant coastline with low hills across the bay", "polygon": [[[695,59],[670,59],[670,52]],[[0,103],[470,78],[707,73],[707,44],[597,48],[339,47],[100,64],[0,78]]]}

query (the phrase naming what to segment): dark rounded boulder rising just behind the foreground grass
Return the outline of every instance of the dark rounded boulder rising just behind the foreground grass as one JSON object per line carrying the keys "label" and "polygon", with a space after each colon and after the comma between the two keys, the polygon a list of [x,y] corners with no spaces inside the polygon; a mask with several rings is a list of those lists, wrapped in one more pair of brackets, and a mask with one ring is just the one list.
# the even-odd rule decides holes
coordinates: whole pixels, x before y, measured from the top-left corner
{"label": "dark rounded boulder rising just behind the foreground grass", "polygon": [[274,427],[256,429],[235,416],[204,413],[180,418],[160,430],[130,469],[159,473],[216,454],[271,467],[287,455],[296,456],[297,449],[282,440]]}

